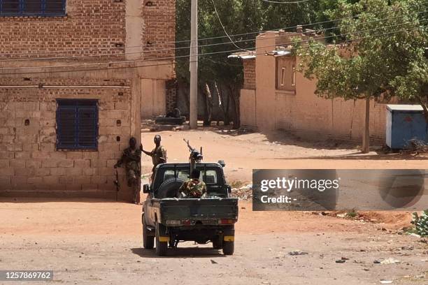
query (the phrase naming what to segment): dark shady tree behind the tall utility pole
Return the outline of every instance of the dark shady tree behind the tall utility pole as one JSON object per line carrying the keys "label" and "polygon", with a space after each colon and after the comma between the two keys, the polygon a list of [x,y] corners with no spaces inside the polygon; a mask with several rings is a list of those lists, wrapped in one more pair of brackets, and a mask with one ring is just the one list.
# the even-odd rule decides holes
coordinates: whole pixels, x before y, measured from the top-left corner
{"label": "dark shady tree behind the tall utility pole", "polygon": [[[248,50],[255,47],[256,33],[249,32],[262,31],[266,29],[279,29],[281,27],[293,26],[301,23],[313,22],[318,10],[317,1],[308,1],[299,5],[280,5],[276,3],[266,3],[259,0],[214,0],[217,14],[215,13],[213,0],[199,0],[199,38],[213,38],[225,36],[224,29],[236,45],[230,42],[229,38],[214,38],[212,40],[199,41],[199,92],[206,92],[206,85],[211,90],[212,96],[216,94],[222,98],[224,122],[229,121],[229,110],[234,127],[239,127],[239,89],[243,84],[243,66],[240,60],[227,59],[227,56],[234,51]],[[186,41],[190,36],[190,0],[177,0],[177,41]],[[216,44],[216,45],[212,45]],[[189,76],[189,43],[177,43],[180,48],[176,52],[177,64],[176,74],[181,86],[187,86]],[[229,51],[229,52],[227,52]],[[209,98],[206,98],[209,100]],[[207,102],[207,101],[205,101]],[[204,104],[208,106],[209,104]],[[230,106],[229,106],[230,105]],[[209,110],[206,110],[205,121],[208,124]]]}

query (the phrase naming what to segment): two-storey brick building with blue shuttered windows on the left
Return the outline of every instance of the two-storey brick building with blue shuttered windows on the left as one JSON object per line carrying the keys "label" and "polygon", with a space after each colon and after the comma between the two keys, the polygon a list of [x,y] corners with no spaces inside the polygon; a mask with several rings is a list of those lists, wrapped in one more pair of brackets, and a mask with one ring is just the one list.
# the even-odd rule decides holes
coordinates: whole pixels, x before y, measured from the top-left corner
{"label": "two-storey brick building with blue shuttered windows on the left", "polygon": [[[113,165],[141,117],[174,105],[175,10],[0,0],[0,196],[115,197]],[[120,182],[130,198],[123,170]]]}

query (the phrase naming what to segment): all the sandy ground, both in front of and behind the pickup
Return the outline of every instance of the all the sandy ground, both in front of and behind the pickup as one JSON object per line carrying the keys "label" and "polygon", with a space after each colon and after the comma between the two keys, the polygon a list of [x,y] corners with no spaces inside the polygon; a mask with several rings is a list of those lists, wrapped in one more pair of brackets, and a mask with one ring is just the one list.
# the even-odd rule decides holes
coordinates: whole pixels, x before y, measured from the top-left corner
{"label": "all the sandy ground, both in front of and behind the pickup", "polygon": [[[252,168],[427,168],[426,158],[352,145],[309,144],[285,135],[216,129],[160,133],[169,162],[187,161],[183,138],[224,159],[229,182]],[[155,133],[144,132],[145,149]],[[150,159],[143,170],[150,172]],[[234,256],[210,245],[180,244],[169,256],[141,249],[141,206],[102,200],[0,200],[0,269],[54,270],[50,284],[427,284],[428,245],[411,235],[403,212],[366,212],[354,221],[311,212],[252,212],[241,200]],[[307,254],[292,256],[291,251]],[[336,263],[345,258],[345,263]],[[394,258],[396,264],[376,264]],[[2,284],[0,282],[0,284]],[[14,284],[6,282],[5,284]],[[29,283],[23,283],[29,284]],[[38,282],[37,284],[41,284]],[[388,284],[388,283],[385,283]]]}

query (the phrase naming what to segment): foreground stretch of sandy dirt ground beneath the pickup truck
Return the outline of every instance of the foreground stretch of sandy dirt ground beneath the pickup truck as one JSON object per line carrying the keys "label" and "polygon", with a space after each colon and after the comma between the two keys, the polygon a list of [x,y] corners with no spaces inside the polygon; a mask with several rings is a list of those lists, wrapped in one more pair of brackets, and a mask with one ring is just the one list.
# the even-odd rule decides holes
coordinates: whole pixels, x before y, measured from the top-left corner
{"label": "foreground stretch of sandy dirt ground beneath the pickup truck", "polygon": [[[54,270],[54,284],[425,284],[428,277],[427,244],[393,234],[408,224],[406,214],[392,224],[370,224],[252,212],[243,201],[234,256],[186,243],[159,258],[141,249],[141,206],[14,202],[0,200],[0,268]],[[336,263],[341,258],[349,260]],[[400,263],[373,263],[387,258]]]}

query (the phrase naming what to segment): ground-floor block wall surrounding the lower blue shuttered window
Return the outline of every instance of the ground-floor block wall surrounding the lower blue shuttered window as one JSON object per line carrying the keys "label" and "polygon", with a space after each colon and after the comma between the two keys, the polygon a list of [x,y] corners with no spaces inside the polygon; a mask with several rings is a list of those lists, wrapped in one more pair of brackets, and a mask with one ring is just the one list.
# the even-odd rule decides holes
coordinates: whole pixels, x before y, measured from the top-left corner
{"label": "ground-floor block wall surrounding the lower blue shuttered window", "polygon": [[[129,80],[38,79],[31,82],[1,78],[22,85],[103,85],[99,88],[0,88],[0,190],[95,193],[111,196],[113,165],[131,136]],[[108,88],[117,86],[118,88]],[[123,86],[123,87],[121,87]],[[56,98],[99,100],[97,151],[56,150]],[[24,124],[29,119],[29,125]],[[120,124],[117,124],[120,120]],[[118,141],[120,138],[120,141]],[[122,193],[129,196],[121,170]]]}

